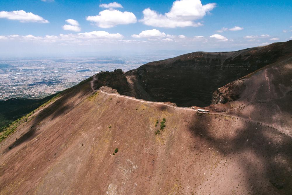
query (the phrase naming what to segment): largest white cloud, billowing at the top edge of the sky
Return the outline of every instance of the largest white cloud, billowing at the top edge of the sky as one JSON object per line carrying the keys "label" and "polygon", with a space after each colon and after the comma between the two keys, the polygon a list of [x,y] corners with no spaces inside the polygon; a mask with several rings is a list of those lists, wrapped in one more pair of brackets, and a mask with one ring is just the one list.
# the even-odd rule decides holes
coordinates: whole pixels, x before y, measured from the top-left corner
{"label": "largest white cloud, billowing at the top edge of the sky", "polygon": [[148,26],[166,28],[201,26],[201,23],[195,23],[194,20],[203,18],[215,5],[215,3],[202,5],[200,0],[177,0],[173,2],[171,10],[164,15],[150,8],[144,9],[144,16],[139,21]]}

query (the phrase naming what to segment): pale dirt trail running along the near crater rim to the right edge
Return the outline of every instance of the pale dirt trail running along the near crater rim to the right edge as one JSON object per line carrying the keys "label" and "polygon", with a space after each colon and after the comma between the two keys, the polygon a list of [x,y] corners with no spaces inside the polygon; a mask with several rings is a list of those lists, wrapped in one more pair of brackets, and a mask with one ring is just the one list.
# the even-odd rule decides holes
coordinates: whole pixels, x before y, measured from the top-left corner
{"label": "pale dirt trail running along the near crater rim to the right edge", "polygon": [[[96,90],[95,90],[96,91]],[[128,97],[126,95],[120,95],[120,94],[116,94],[116,93],[106,93],[102,90],[98,90],[100,91],[101,93],[104,93],[104,94],[107,94],[107,95],[114,95],[114,96],[118,96],[118,97],[122,97],[122,98],[126,98],[126,99],[130,99],[130,100],[135,100],[135,101],[138,101],[138,102],[145,102],[145,103],[149,103],[149,104],[158,104],[158,105],[164,105],[164,106],[168,106],[168,107],[172,107],[174,109],[178,109],[178,110],[185,110],[185,111],[190,111],[190,112],[197,112],[197,110],[195,109],[191,109],[191,108],[185,108],[185,107],[177,107],[177,106],[172,106],[172,105],[169,105],[167,103],[164,103],[164,102],[151,102],[151,101],[147,101],[147,100],[139,100],[139,99],[136,99],[136,98],[132,98],[132,97]],[[246,121],[250,121],[250,122],[253,122],[253,123],[256,123],[256,124],[261,124],[261,125],[265,125],[265,126],[269,126],[273,129],[276,129],[277,131],[279,131],[280,133],[282,134],[285,134],[289,137],[292,138],[292,135],[289,135],[289,134],[286,134],[284,133],[283,131],[281,131],[280,129],[277,129],[276,127],[270,125],[270,124],[267,124],[267,123],[263,123],[263,122],[259,122],[259,121],[256,121],[256,120],[252,120],[252,119],[246,119],[246,118],[242,118],[242,117],[238,117],[238,116],[233,116],[233,115],[228,115],[228,114],[223,114],[223,113],[215,113],[215,112],[206,112],[204,114],[213,114],[213,115],[220,115],[220,116],[227,116],[227,117],[235,117],[235,118],[239,118],[239,119],[242,119],[242,120],[246,120]]]}

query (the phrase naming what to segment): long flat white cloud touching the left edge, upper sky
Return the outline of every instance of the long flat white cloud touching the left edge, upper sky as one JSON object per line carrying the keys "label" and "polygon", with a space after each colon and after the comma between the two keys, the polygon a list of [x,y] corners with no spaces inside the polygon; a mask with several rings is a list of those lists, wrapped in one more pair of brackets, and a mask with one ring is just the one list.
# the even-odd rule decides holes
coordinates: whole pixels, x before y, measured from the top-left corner
{"label": "long flat white cloud touching the left edge, upper sky", "polygon": [[41,16],[35,15],[31,12],[19,11],[0,11],[0,18],[7,18],[9,20],[19,20],[20,22],[38,22],[38,23],[49,23]]}

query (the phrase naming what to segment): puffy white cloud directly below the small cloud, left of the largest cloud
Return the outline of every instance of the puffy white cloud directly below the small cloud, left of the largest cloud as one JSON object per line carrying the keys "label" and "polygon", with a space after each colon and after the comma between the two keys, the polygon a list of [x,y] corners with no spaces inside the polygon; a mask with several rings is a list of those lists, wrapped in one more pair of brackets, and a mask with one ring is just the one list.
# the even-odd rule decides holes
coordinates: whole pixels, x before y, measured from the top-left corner
{"label": "puffy white cloud directly below the small cloud, left of the largest cloud", "polygon": [[119,24],[137,22],[137,18],[132,12],[107,9],[99,12],[98,16],[87,16],[86,20],[96,23],[100,28],[112,28]]}

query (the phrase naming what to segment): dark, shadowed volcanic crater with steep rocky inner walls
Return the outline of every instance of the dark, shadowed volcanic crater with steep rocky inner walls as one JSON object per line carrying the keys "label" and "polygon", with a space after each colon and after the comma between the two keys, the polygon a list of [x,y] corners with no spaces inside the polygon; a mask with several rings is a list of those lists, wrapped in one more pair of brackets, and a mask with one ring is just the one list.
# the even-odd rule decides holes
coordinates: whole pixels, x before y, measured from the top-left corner
{"label": "dark, shadowed volcanic crater with steep rocky inner walls", "polygon": [[193,52],[127,72],[121,69],[100,72],[94,76],[93,88],[105,85],[137,99],[173,102],[180,107],[206,107],[211,104],[215,90],[277,61],[289,49],[283,43],[275,43],[235,52]]}

